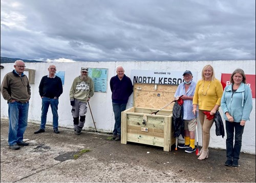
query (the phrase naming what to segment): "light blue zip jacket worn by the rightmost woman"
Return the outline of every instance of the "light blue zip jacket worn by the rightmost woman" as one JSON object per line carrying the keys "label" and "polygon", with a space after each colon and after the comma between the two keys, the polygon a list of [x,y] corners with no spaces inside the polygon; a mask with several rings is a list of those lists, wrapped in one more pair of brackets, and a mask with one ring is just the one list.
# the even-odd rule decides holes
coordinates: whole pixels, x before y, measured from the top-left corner
{"label": "light blue zip jacket worn by the rightmost woman", "polygon": [[234,122],[250,120],[250,113],[252,111],[252,95],[250,87],[241,83],[238,90],[232,95],[232,86],[226,86],[221,98],[221,109],[224,113],[224,119],[227,121],[226,112],[233,117]]}

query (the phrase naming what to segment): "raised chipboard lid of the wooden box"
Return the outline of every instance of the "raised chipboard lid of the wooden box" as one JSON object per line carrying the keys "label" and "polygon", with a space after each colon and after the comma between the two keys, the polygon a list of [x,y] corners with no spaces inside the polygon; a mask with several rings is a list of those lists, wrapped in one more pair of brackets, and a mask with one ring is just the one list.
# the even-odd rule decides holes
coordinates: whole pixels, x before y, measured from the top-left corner
{"label": "raised chipboard lid of the wooden box", "polygon": [[[161,109],[174,100],[178,85],[134,84],[133,106]],[[164,109],[173,110],[174,102]]]}

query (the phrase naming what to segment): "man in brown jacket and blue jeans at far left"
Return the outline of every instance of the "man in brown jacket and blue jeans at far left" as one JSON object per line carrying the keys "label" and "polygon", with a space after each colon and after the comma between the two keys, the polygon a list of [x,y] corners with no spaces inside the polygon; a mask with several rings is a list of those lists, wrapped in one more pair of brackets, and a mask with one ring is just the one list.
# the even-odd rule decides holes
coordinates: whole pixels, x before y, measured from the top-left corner
{"label": "man in brown jacket and blue jeans at far left", "polygon": [[29,145],[28,142],[23,141],[28,125],[29,99],[31,96],[28,77],[23,73],[25,67],[22,60],[16,60],[14,70],[5,75],[1,85],[1,93],[8,103],[8,144],[12,150]]}

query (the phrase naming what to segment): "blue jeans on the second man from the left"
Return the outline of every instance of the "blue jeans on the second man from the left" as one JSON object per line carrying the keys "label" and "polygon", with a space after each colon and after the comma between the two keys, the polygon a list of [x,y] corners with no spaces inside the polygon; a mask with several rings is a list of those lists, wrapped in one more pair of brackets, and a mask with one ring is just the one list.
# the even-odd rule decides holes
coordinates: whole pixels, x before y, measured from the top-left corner
{"label": "blue jeans on the second man from the left", "polygon": [[44,97],[42,98],[42,113],[41,113],[41,126],[40,129],[45,129],[46,128],[46,119],[47,119],[47,113],[49,106],[51,105],[52,109],[52,123],[53,123],[53,129],[58,127],[58,104],[59,104],[59,99],[53,99],[53,98],[47,98]]}

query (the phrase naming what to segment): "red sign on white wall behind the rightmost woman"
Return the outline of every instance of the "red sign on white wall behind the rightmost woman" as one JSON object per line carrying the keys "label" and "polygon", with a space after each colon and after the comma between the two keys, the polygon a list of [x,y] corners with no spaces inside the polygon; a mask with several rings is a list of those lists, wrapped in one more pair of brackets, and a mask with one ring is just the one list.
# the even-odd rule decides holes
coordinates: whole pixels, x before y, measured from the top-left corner
{"label": "red sign on white wall behind the rightmost woman", "polygon": [[[224,73],[221,74],[221,84],[222,84],[223,90],[227,85],[230,85],[230,82],[229,82],[230,76],[231,74],[224,74]],[[251,88],[252,98],[255,98],[255,74],[245,74],[245,76],[246,76],[246,84]]]}

